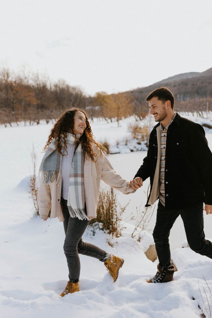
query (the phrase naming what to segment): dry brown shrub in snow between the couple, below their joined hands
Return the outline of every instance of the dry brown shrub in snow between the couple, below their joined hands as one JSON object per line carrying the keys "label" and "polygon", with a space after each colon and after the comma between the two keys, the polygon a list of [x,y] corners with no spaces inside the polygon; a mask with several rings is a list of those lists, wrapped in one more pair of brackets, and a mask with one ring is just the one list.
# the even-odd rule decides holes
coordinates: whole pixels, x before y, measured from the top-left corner
{"label": "dry brown shrub in snow between the couple, below their joined hands", "polygon": [[121,206],[117,200],[117,192],[113,188],[102,189],[99,192],[99,201],[97,206],[97,218],[91,220],[89,227],[95,234],[95,229],[105,229],[111,237],[121,236],[123,229],[122,214],[127,205]]}

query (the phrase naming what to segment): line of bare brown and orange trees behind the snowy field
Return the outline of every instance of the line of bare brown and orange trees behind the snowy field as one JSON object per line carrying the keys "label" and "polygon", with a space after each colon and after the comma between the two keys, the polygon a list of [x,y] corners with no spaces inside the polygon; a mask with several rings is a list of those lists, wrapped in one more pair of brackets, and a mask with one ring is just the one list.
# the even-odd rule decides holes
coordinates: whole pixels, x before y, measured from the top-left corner
{"label": "line of bare brown and orange trees behind the snowy field", "polygon": [[[19,125],[20,121],[30,125],[39,124],[41,120],[53,122],[72,107],[85,109],[91,119],[115,120],[119,126],[122,118],[134,115],[141,120],[148,114],[145,97],[136,98],[133,92],[97,92],[94,96],[86,96],[79,87],[70,86],[63,79],[52,83],[48,76],[27,73],[24,69],[19,74],[5,67],[0,69],[0,124],[5,127],[14,122]],[[212,98],[207,101],[204,98],[176,100],[175,109],[210,110]]]}

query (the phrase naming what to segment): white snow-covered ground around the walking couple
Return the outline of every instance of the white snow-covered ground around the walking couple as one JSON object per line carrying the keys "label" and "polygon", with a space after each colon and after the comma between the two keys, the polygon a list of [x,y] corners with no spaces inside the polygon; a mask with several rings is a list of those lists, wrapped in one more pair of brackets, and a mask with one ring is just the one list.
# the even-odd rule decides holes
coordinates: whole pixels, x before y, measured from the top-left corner
{"label": "white snow-covered ground around the walking couple", "polygon": [[[188,117],[188,116],[185,116]],[[188,117],[193,121],[211,123],[211,118]],[[117,140],[130,137],[128,118],[117,123],[105,121],[91,123],[97,140],[105,139],[115,145]],[[154,126],[154,121],[145,119],[143,125]],[[44,222],[33,218],[32,204],[26,191],[31,167],[32,143],[38,155],[37,170],[43,156],[42,148],[52,124],[3,128],[1,127],[1,176],[0,188],[0,317],[9,318],[181,318],[201,317],[207,314],[209,291],[212,291],[212,260],[196,254],[189,248],[181,248],[186,239],[181,218],[171,230],[170,246],[172,259],[178,271],[174,281],[166,284],[147,284],[146,280],[156,273],[157,260],[152,263],[144,254],[145,246],[152,241],[156,209],[149,224],[149,233],[140,243],[133,240],[133,222],[127,223],[123,235],[106,244],[107,235],[102,231],[94,237],[88,232],[84,240],[98,245],[113,254],[120,255],[125,263],[117,282],[112,283],[105,266],[96,259],[81,255],[80,292],[63,299],[58,295],[67,283],[68,270],[63,243],[63,224],[58,219]],[[211,130],[206,130],[209,147],[212,149]],[[116,171],[130,180],[142,164],[146,151],[110,155],[108,158]],[[135,214],[146,203],[149,180],[133,195],[119,194],[124,205],[129,200],[126,215]],[[102,184],[104,187],[104,184]],[[212,239],[212,216],[204,213],[206,238]],[[199,285],[198,285],[199,283]],[[202,287],[203,284],[203,287]],[[199,290],[200,286],[200,290]],[[206,309],[204,308],[203,301]],[[195,298],[195,300],[193,300]],[[211,304],[211,302],[210,302]],[[211,304],[212,306],[212,304]],[[212,307],[210,308],[212,313]],[[208,309],[209,313],[209,309]]]}

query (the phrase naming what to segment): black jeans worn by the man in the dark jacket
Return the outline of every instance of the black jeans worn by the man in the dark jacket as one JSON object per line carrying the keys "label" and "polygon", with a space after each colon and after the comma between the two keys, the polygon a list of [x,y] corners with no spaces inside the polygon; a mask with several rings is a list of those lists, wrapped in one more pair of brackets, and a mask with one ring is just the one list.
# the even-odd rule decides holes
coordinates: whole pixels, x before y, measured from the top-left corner
{"label": "black jeans worn by the man in the dark jacket", "polygon": [[153,231],[155,248],[161,267],[170,265],[169,233],[178,216],[181,216],[190,248],[201,255],[212,258],[212,243],[205,239],[203,231],[203,203],[184,210],[168,210],[158,203],[157,219]]}

